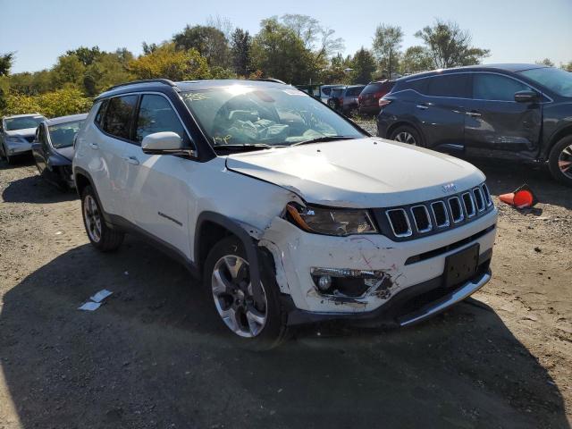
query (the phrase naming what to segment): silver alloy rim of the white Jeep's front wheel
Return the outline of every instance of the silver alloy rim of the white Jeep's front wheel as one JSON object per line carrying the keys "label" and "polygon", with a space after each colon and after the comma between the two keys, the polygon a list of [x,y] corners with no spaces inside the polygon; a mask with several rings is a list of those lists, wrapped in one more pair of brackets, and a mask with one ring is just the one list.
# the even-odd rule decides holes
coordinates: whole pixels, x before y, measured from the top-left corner
{"label": "silver alloy rim of the white Jeep's front wheel", "polygon": [[267,301],[262,286],[263,305],[258,306],[252,293],[248,262],[227,255],[214,264],[211,280],[214,306],[224,324],[240,337],[256,337],[265,327]]}

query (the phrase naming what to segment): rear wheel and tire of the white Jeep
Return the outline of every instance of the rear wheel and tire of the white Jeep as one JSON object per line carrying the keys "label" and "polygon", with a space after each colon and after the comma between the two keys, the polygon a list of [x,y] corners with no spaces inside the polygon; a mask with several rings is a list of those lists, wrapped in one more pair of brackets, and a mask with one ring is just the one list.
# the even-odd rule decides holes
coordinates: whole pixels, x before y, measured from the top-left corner
{"label": "rear wheel and tire of the white Jeep", "polygon": [[97,250],[111,252],[121,246],[123,233],[105,224],[103,211],[91,186],[86,186],[81,192],[81,214],[88,239]]}

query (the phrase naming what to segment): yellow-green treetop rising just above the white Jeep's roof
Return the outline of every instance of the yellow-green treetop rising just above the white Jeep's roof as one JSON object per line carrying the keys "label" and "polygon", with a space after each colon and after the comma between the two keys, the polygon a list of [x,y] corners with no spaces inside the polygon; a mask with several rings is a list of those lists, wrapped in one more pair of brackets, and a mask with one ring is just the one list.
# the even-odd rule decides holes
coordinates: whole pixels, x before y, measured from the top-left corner
{"label": "yellow-green treetop rising just above the white Jeep's roof", "polygon": [[158,46],[151,54],[132,60],[127,69],[137,79],[197,80],[210,77],[206,58],[195,49],[176,50],[172,43]]}

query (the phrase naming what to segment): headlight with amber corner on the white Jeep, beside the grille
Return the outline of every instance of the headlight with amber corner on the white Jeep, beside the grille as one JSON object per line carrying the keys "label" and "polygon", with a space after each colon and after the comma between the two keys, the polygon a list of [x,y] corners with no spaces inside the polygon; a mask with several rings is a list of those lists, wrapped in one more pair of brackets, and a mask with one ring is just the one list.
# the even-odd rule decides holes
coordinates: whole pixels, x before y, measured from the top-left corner
{"label": "headlight with amber corner on the white Jeep, beside the grille", "polygon": [[316,234],[346,236],[377,232],[367,210],[300,206],[289,203],[286,216],[301,229]]}

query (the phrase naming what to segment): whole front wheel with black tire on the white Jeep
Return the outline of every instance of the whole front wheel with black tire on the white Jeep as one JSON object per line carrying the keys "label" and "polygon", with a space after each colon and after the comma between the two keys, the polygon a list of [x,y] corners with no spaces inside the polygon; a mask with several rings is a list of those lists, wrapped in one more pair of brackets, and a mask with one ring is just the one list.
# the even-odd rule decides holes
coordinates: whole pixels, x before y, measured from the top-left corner
{"label": "whole front wheel with black tire on the white Jeep", "polygon": [[219,320],[233,341],[256,350],[278,346],[287,334],[278,285],[273,275],[261,273],[261,277],[263,302],[256,303],[247,253],[234,236],[220,240],[206,257],[205,290]]}

